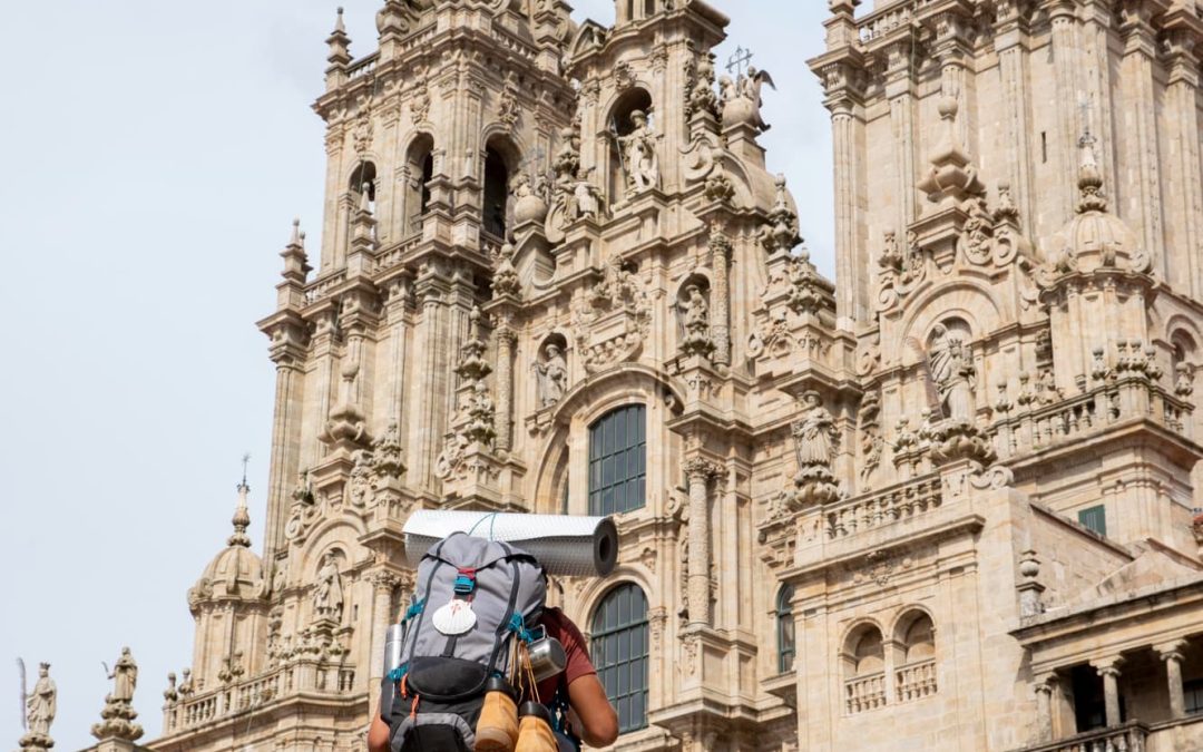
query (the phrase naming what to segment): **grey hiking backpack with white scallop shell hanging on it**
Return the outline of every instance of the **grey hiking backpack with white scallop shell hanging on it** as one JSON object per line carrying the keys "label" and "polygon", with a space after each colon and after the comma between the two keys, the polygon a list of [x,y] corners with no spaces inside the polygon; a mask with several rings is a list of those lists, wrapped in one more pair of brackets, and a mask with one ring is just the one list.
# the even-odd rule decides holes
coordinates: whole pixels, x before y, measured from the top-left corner
{"label": "grey hiking backpack with white scallop shell hanging on it", "polygon": [[546,574],[526,551],[454,533],[426,552],[416,584],[401,668],[384,680],[395,699],[380,715],[393,752],[467,752],[485,685],[509,674],[512,640],[543,616]]}

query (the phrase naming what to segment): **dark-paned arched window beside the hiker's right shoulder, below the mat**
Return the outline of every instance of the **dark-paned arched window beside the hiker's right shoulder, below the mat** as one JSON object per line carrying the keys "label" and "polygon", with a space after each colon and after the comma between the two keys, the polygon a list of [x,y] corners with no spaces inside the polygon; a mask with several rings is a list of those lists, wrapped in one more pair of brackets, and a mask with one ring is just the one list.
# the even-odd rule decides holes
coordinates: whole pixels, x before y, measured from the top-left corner
{"label": "dark-paned arched window beside the hiker's right shoulder, below the mat", "polygon": [[593,612],[591,652],[598,679],[618,711],[618,732],[647,726],[647,597],[626,582]]}

